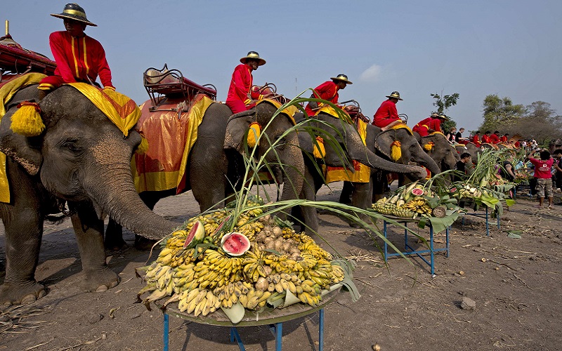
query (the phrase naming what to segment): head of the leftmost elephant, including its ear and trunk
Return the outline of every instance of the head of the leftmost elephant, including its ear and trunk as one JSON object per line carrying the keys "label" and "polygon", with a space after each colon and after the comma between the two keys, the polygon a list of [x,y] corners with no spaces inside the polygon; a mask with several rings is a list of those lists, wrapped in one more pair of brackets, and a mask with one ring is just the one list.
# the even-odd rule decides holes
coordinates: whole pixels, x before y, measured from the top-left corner
{"label": "head of the leftmost elephant, including its ear and trunk", "polygon": [[[37,87],[27,90],[37,95]],[[19,94],[19,93],[18,93]],[[27,98],[25,98],[27,99]],[[0,149],[34,176],[54,197],[70,204],[89,203],[98,218],[109,214],[124,227],[161,239],[176,226],[145,206],[136,194],[130,161],[141,136],[124,133],[71,86],[62,86],[39,103],[45,130],[31,138],[6,133],[11,114],[2,120]],[[7,135],[6,135],[7,134]]]}

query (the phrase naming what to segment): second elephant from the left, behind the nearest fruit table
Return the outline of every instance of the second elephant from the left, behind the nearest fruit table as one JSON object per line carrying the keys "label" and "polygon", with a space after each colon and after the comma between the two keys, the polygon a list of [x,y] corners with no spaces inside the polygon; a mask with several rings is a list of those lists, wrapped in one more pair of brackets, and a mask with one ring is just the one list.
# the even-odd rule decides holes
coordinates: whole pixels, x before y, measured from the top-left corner
{"label": "second elephant from the left, behind the nearest fruit table", "polygon": [[[252,122],[258,122],[262,128],[271,121],[277,111],[270,102],[261,102],[246,112],[232,114],[228,106],[221,103],[211,103],[204,114],[197,129],[197,140],[193,144],[187,162],[188,180],[185,191],[191,190],[200,205],[200,211],[209,208],[221,208],[224,200],[235,191],[235,187],[242,184],[244,175],[244,136]],[[296,199],[299,197],[303,184],[304,162],[299,149],[299,139],[296,131],[285,133],[292,128],[293,121],[287,114],[278,114],[266,129],[259,143],[256,156],[266,154],[266,161],[276,171],[278,183],[284,183],[281,199]],[[271,143],[277,142],[275,147],[278,158],[271,150]],[[285,166],[280,170],[275,164]],[[235,187],[233,187],[233,185]],[[159,199],[176,194],[176,189],[164,191],[145,191],[140,196],[149,208],[154,208]],[[105,233],[105,246],[120,247],[124,244],[122,228],[110,220]],[[138,249],[145,249],[147,244],[136,238]],[[140,242],[138,242],[140,241]]]}

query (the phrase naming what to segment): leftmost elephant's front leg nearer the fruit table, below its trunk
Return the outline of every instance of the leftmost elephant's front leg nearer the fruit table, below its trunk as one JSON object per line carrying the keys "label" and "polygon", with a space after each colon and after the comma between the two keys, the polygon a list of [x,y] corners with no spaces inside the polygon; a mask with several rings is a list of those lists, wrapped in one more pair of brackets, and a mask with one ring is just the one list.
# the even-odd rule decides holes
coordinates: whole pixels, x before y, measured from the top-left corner
{"label": "leftmost elephant's front leg nearer the fruit table, below its trunk", "polygon": [[82,260],[81,287],[84,291],[106,291],[119,284],[119,276],[107,267],[103,248],[103,220],[91,209],[80,208],[72,216],[72,226]]}

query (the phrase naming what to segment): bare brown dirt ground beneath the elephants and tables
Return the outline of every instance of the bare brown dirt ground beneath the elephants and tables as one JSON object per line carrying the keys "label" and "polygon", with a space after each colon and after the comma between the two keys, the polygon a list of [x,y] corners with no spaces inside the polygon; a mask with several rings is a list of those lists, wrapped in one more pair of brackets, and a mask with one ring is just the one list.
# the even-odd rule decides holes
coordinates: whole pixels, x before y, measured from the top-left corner
{"label": "bare brown dirt ground beneath the elephants and tables", "polygon": [[[336,201],[341,183],[320,190]],[[388,267],[372,239],[340,218],[322,213],[325,238],[355,258],[355,284],[362,298],[341,293],[325,308],[325,350],[561,350],[562,206],[537,209],[528,197],[505,212],[501,229],[466,216],[450,232],[450,255],[436,255],[436,276],[419,258],[391,258]],[[191,194],[164,199],[155,211],[183,223],[197,214]],[[521,239],[507,230],[522,230]],[[419,230],[426,233],[427,230]],[[0,232],[4,260],[4,231]],[[403,232],[389,238],[403,249]],[[133,234],[126,233],[129,245]],[[445,234],[436,236],[442,246]],[[381,244],[381,241],[379,241]],[[325,243],[322,246],[327,248]],[[148,252],[108,252],[122,282],[103,293],[78,289],[81,263],[70,220],[46,225],[37,279],[48,294],[0,316],[0,350],[162,350],[163,315],[134,303],[143,287],[134,269]],[[152,258],[153,259],[153,258]],[[4,272],[0,272],[0,282]],[[465,303],[462,303],[463,298]],[[468,300],[470,299],[470,300]],[[473,303],[475,308],[470,309]],[[468,308],[462,308],[468,307]],[[240,328],[246,350],[275,350],[266,326]],[[226,327],[170,318],[170,350],[238,350]],[[284,350],[318,350],[318,313],[283,324]]]}

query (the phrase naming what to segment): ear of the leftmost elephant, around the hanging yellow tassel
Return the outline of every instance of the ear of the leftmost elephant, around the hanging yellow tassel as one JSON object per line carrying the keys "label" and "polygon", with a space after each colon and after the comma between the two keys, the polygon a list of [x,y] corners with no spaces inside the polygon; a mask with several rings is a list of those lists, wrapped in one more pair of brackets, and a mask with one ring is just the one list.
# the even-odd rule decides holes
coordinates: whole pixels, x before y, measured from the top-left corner
{"label": "ear of the leftmost elephant, around the hanging yellow tassel", "polygon": [[[35,90],[37,91],[37,88]],[[0,121],[0,151],[18,162],[27,173],[35,176],[43,163],[40,152],[42,138],[26,137],[11,130],[12,116],[18,110],[17,101],[12,102]]]}

